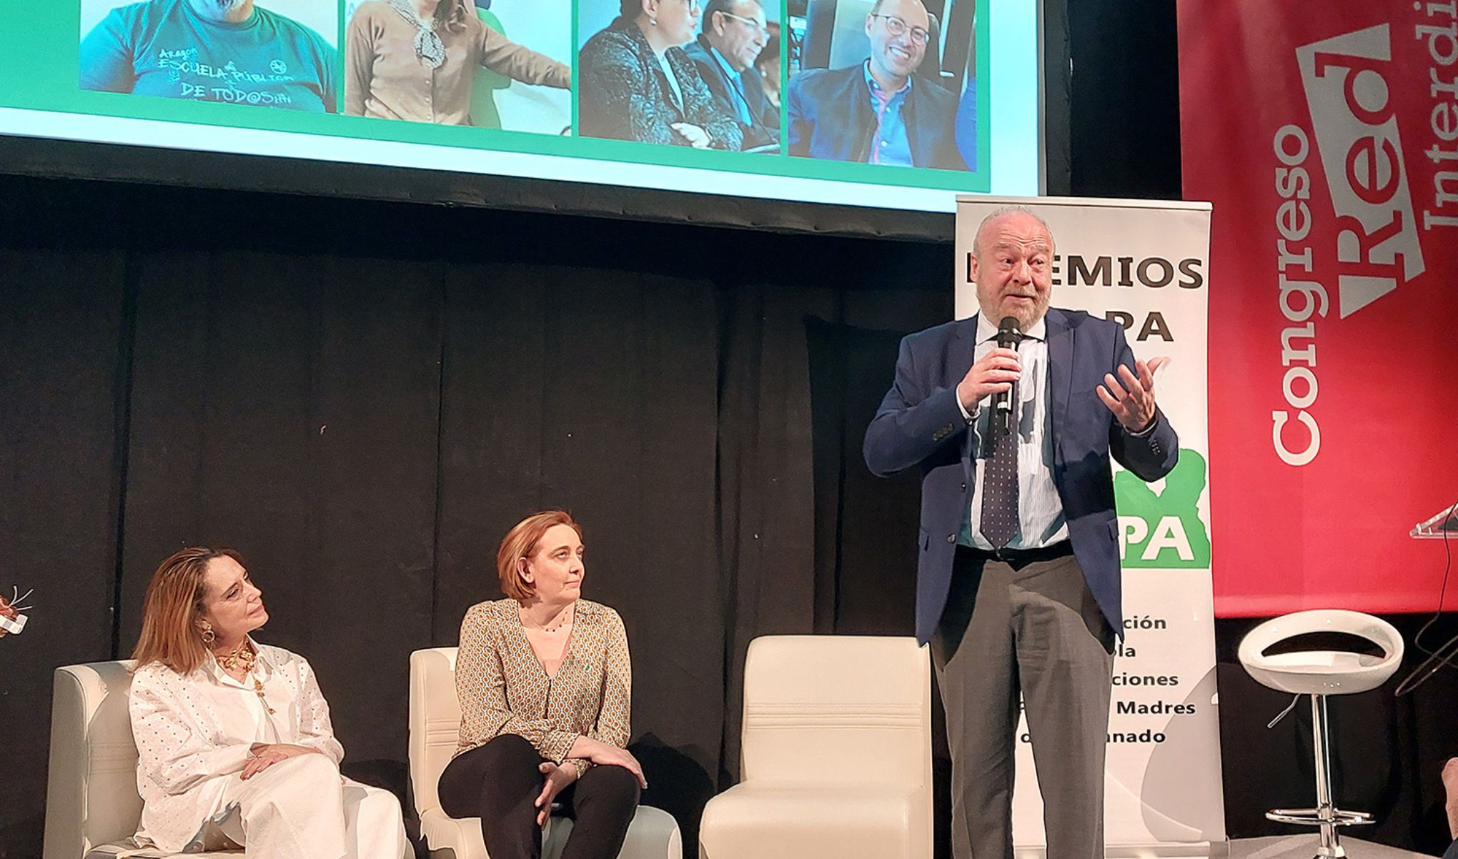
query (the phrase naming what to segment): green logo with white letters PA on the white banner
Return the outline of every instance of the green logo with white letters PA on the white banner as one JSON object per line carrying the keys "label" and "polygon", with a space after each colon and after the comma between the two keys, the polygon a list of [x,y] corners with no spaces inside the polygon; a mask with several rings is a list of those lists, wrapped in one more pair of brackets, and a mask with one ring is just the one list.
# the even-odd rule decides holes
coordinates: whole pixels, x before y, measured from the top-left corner
{"label": "green logo with white letters PA on the white banner", "polygon": [[1165,489],[1159,494],[1133,473],[1114,475],[1118,548],[1126,569],[1210,566],[1210,532],[1198,510],[1204,471],[1204,456],[1180,448],[1180,464],[1165,477]]}

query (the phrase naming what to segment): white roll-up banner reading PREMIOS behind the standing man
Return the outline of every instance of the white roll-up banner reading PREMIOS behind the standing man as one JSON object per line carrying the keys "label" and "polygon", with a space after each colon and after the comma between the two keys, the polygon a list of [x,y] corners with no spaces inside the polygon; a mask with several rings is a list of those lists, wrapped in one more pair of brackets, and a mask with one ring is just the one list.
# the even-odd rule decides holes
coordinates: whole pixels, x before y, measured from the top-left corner
{"label": "white roll-up banner reading PREMIOS behind the standing man", "polygon": [[[978,312],[968,267],[977,226],[1009,204],[1026,206],[1053,232],[1053,306],[1120,322],[1139,359],[1171,359],[1155,378],[1155,395],[1180,435],[1178,465],[1146,484],[1112,464],[1124,640],[1114,659],[1110,707],[1107,852],[1222,852],[1207,470],[1210,206],[958,198],[959,319]],[[1041,855],[1045,844],[1026,720],[1018,729],[1016,764],[1013,844],[1026,859]]]}

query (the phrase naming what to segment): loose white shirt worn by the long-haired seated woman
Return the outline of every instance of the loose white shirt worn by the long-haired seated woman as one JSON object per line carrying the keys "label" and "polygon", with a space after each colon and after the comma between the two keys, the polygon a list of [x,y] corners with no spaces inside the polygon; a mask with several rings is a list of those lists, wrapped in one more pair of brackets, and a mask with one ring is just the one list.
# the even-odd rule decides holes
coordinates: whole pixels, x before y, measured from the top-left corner
{"label": "loose white shirt worn by the long-haired seated woman", "polygon": [[139,841],[168,852],[198,841],[206,823],[226,817],[229,776],[243,769],[255,742],[306,745],[335,764],[344,760],[309,662],[283,648],[255,648],[258,661],[243,683],[211,655],[185,675],[160,662],[133,675],[128,707],[143,799]]}

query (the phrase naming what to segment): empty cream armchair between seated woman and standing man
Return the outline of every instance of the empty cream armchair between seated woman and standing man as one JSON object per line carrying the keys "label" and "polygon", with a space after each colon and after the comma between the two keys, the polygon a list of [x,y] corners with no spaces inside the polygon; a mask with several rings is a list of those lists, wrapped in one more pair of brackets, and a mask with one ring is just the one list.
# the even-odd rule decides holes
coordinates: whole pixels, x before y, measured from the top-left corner
{"label": "empty cream armchair between seated woman and standing man", "polygon": [[932,677],[914,639],[755,639],[742,745],[700,859],[930,859]]}

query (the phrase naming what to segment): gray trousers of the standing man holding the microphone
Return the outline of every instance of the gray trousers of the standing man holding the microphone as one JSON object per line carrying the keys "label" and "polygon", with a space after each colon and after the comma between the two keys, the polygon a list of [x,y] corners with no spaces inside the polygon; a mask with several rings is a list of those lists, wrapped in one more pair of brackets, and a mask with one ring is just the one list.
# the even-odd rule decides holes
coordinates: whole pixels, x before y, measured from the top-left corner
{"label": "gray trousers of the standing man holding the microphone", "polygon": [[952,751],[952,856],[1012,858],[1021,693],[1048,859],[1102,859],[1114,630],[1073,554],[1009,564],[958,547],[932,662]]}

